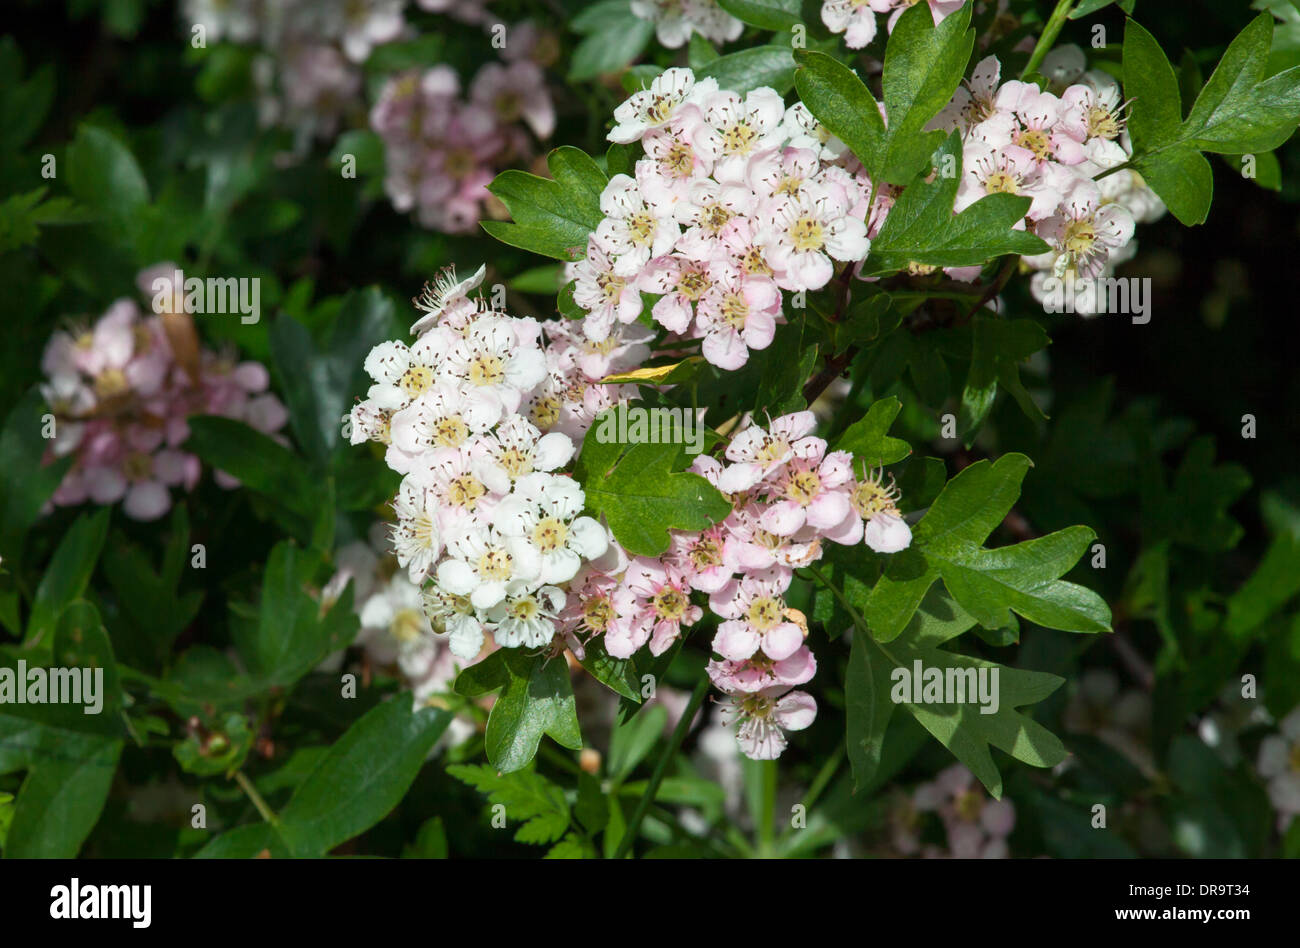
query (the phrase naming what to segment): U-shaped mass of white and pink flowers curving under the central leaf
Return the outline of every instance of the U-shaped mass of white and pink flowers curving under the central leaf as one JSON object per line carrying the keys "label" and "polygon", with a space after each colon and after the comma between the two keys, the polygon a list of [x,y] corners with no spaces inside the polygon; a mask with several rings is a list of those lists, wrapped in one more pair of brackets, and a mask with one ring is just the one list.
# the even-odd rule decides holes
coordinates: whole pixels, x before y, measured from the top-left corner
{"label": "U-shaped mass of white and pink flowers curving under the central leaf", "polygon": [[701,532],[673,531],[662,557],[629,557],[585,516],[585,494],[563,473],[595,416],[632,390],[601,384],[640,364],[650,333],[616,324],[599,342],[588,316],[538,324],[471,293],[484,270],[426,287],[413,345],[386,342],[367,359],[373,378],[348,419],[354,443],[377,441],[403,475],[393,544],[452,654],[471,659],[486,635],[503,648],[582,655],[594,639],[615,658],[663,654],[718,619],[708,665],[728,696],[741,746],[772,758],[783,731],[806,727],[812,698],[792,691],[816,662],[803,616],[785,602],[794,568],[823,541],[906,547],[911,532],[881,475],[815,437],[811,411],[749,421],[725,460],[693,471],[732,503]]}

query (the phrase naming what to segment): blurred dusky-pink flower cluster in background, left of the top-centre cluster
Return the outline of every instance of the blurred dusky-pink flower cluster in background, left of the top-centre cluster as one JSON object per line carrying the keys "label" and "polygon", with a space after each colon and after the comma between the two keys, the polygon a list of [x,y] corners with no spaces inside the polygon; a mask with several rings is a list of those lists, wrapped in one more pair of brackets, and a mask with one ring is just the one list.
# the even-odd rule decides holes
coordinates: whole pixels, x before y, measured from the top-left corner
{"label": "blurred dusky-pink flower cluster in background, left of the top-centre cluster", "polygon": [[528,157],[524,126],[538,139],[555,130],[542,65],[552,51],[528,23],[510,27],[503,62],[488,62],[462,94],[446,65],[394,75],[370,109],[384,139],[385,190],[393,207],[426,228],[467,233],[477,226],[495,173]]}

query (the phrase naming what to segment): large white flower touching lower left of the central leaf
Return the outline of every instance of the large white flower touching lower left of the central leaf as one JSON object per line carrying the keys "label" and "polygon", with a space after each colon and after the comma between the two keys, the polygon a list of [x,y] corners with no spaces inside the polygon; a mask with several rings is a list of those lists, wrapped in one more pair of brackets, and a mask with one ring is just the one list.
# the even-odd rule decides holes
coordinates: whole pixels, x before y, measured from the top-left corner
{"label": "large white flower touching lower left of the central leaf", "polygon": [[585,501],[582,488],[571,477],[525,475],[497,506],[493,525],[536,551],[542,583],[567,583],[584,559],[595,559],[608,546],[601,524],[578,516]]}

